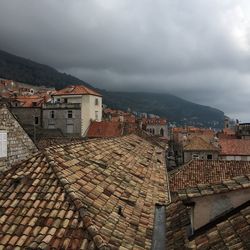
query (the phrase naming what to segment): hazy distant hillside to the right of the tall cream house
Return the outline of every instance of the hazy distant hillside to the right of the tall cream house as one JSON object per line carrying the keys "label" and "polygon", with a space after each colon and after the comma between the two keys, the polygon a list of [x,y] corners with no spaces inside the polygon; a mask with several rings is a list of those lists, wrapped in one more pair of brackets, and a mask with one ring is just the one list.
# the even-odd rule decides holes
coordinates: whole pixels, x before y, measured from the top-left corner
{"label": "hazy distant hillside to the right of the tall cream house", "polygon": [[195,104],[170,94],[103,92],[104,103],[113,108],[124,107],[139,112],[158,114],[179,125],[221,128],[224,113],[218,109]]}

